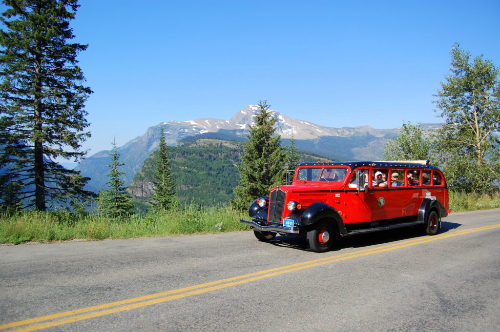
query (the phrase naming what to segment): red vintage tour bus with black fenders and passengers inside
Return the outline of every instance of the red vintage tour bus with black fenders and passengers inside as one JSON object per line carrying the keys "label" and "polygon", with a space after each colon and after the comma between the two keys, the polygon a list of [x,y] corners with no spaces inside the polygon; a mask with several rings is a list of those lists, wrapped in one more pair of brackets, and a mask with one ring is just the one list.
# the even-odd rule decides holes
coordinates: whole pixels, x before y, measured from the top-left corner
{"label": "red vintage tour bus with black fenders and passengers inside", "polygon": [[302,163],[291,184],[277,186],[249,207],[255,237],[300,234],[315,252],[334,235],[350,236],[414,225],[435,235],[449,213],[443,173],[428,161]]}

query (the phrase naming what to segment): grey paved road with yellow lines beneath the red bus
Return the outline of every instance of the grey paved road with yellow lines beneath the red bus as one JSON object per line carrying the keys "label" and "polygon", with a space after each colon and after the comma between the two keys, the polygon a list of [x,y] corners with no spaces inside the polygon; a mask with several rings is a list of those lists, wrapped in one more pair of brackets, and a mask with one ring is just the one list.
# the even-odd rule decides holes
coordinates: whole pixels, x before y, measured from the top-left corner
{"label": "grey paved road with yellow lines beneath the red bus", "polygon": [[499,213],[325,254],[251,232],[1,246],[0,332],[497,332]]}

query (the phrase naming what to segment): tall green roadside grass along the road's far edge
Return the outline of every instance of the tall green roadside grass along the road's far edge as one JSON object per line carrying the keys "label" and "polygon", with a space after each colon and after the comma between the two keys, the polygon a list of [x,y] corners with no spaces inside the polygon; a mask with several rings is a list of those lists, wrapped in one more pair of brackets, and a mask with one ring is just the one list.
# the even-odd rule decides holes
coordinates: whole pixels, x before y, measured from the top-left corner
{"label": "tall green roadside grass along the road's far edge", "polygon": [[[500,208],[500,197],[449,192],[451,212]],[[180,234],[221,233],[248,230],[239,222],[246,212],[229,206],[148,213],[143,216],[108,218],[67,211],[20,211],[0,215],[0,244],[50,242],[71,239],[101,240]]]}

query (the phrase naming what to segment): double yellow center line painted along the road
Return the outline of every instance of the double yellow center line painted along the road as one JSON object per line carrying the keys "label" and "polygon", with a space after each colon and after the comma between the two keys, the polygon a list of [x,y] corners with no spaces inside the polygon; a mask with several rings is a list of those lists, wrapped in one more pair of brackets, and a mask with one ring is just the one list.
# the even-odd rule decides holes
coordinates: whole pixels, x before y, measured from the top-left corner
{"label": "double yellow center line painted along the road", "polygon": [[[146,307],[146,306],[154,305],[157,303],[186,298],[186,297],[193,296],[193,295],[208,293],[208,292],[220,290],[223,288],[228,288],[228,287],[237,286],[237,285],[241,285],[241,284],[251,283],[251,282],[265,279],[265,278],[279,276],[279,275],[282,275],[285,273],[290,273],[290,272],[294,272],[294,271],[313,268],[313,267],[324,265],[324,264],[330,264],[330,263],[344,261],[344,260],[348,260],[348,259],[352,259],[352,258],[356,258],[356,257],[367,256],[367,255],[382,253],[382,252],[386,252],[386,251],[390,251],[390,250],[410,247],[410,246],[414,246],[414,245],[418,245],[418,244],[422,244],[422,243],[426,243],[426,242],[431,242],[431,241],[436,241],[436,240],[442,240],[442,239],[446,239],[446,238],[450,238],[450,237],[454,237],[454,236],[491,230],[491,229],[499,228],[499,227],[500,227],[500,224],[495,224],[495,225],[472,228],[472,229],[467,229],[467,230],[453,232],[453,233],[448,232],[448,233],[444,233],[444,234],[436,235],[436,236],[432,236],[432,237],[412,239],[412,240],[405,241],[405,242],[398,242],[396,244],[390,244],[390,245],[381,246],[381,247],[377,247],[377,248],[359,250],[359,251],[355,251],[353,253],[346,253],[346,254],[340,254],[340,255],[335,255],[335,256],[323,257],[323,258],[319,258],[319,259],[312,260],[312,261],[286,265],[286,266],[282,266],[282,267],[278,267],[278,268],[273,268],[273,269],[269,269],[269,270],[263,270],[263,271],[250,273],[250,274],[243,275],[243,276],[237,276],[237,277],[213,281],[210,283],[204,283],[204,284],[199,284],[199,285],[185,287],[185,288],[179,288],[179,289],[171,290],[171,291],[167,291],[167,292],[146,295],[146,296],[133,298],[133,299],[127,299],[127,300],[123,300],[123,301],[106,303],[106,304],[94,306],[94,307],[71,310],[71,311],[67,311],[67,312],[63,312],[63,313],[32,318],[32,319],[28,319],[28,320],[24,320],[24,321],[12,322],[12,323],[8,323],[8,324],[0,325],[0,332],[6,332],[6,331],[9,331],[9,332],[21,332],[21,331],[27,332],[27,331],[40,330],[40,329],[58,326],[58,325],[62,325],[62,324],[87,320],[87,319],[94,318],[94,317],[114,314],[114,313],[130,310],[130,309]],[[20,328],[13,329],[16,327],[20,327]]]}

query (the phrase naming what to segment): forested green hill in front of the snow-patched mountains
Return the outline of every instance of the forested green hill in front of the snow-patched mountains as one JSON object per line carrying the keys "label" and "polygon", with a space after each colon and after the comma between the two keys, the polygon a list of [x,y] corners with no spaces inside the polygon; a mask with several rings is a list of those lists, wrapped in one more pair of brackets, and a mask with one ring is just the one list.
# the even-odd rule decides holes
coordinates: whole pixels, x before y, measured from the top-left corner
{"label": "forested green hill in front of the snow-patched mountains", "polygon": [[[232,191],[239,180],[236,165],[241,162],[243,142],[200,138],[167,149],[181,204],[226,205],[233,199]],[[325,159],[300,153],[300,162],[316,160]],[[151,154],[128,187],[140,210],[147,209],[154,170],[154,154]]]}

